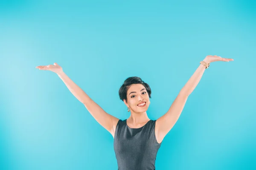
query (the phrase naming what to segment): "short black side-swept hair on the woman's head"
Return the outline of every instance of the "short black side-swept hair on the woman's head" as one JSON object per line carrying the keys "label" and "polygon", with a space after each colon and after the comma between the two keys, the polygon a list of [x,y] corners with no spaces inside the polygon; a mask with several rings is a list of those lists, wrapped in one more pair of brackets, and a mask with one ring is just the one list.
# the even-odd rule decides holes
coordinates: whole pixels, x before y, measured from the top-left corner
{"label": "short black side-swept hair on the woman's head", "polygon": [[149,85],[147,83],[142,81],[142,79],[140,77],[128,77],[124,81],[122,86],[119,88],[119,98],[122,101],[125,99],[125,101],[127,102],[127,91],[130,88],[130,86],[133,84],[142,84],[145,87],[146,91],[148,92],[149,98],[151,98],[151,88],[149,87]]}

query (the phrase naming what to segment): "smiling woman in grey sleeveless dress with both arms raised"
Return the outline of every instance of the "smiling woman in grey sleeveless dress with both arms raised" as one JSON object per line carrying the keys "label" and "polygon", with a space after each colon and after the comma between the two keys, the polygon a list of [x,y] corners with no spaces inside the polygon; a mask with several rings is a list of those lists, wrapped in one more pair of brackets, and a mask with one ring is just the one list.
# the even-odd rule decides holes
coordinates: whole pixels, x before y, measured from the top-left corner
{"label": "smiling woman in grey sleeveless dress with both arms raised", "polygon": [[233,59],[208,55],[180,90],[175,101],[163,116],[157,120],[148,118],[151,89],[139,77],[129,77],[119,89],[119,97],[127,106],[131,116],[121,120],[106,113],[99,105],[63,72],[61,66],[37,66],[39,70],[53,71],[62,79],[71,93],[84,104],[90,114],[108,130],[114,138],[114,151],[119,170],[154,170],[157,151],[166,134],[180,117],[188,96],[198,85],[209,63],[233,61]]}

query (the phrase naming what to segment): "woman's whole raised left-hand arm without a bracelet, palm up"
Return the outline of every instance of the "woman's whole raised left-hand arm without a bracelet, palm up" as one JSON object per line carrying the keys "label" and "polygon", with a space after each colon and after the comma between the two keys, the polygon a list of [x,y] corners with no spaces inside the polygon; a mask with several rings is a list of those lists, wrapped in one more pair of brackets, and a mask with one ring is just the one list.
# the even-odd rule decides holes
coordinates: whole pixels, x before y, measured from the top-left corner
{"label": "woman's whole raised left-hand arm without a bracelet, palm up", "polygon": [[84,104],[85,108],[90,112],[90,114],[96,119],[96,121],[102,125],[106,130],[108,130],[114,137],[116,124],[119,121],[118,118],[105,112],[96,102],[94,102],[78,85],[76,85],[68,76],[64,73],[61,66],[57,63],[47,66],[37,66],[39,70],[49,70],[58,75],[70,92]]}

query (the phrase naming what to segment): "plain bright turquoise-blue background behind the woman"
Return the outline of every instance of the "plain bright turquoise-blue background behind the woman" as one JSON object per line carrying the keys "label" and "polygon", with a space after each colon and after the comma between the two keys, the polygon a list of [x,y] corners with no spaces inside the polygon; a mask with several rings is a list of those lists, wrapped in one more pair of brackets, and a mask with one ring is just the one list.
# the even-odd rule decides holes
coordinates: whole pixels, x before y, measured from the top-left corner
{"label": "plain bright turquoise-blue background behind the woman", "polygon": [[157,170],[256,169],[256,3],[0,3],[0,169],[116,170],[113,137],[51,71],[57,62],[106,112],[127,119],[118,90],[138,76],[148,117],[168,111],[207,55],[213,62],[163,139]]}

